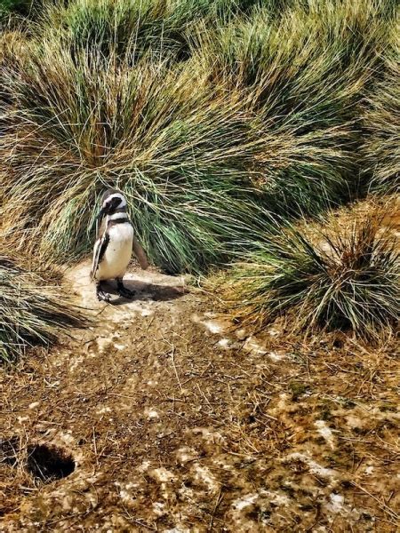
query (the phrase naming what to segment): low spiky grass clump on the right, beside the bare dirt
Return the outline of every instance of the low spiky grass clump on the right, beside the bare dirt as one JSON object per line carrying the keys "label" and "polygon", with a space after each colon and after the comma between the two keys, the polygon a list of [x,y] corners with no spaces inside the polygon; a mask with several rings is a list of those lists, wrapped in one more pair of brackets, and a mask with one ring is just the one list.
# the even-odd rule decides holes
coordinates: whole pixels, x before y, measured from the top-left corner
{"label": "low spiky grass clump on the right, beside the bare dirt", "polygon": [[299,329],[351,329],[372,338],[399,318],[395,241],[373,216],[343,229],[292,227],[260,243],[222,283],[236,321],[261,330],[284,314]]}

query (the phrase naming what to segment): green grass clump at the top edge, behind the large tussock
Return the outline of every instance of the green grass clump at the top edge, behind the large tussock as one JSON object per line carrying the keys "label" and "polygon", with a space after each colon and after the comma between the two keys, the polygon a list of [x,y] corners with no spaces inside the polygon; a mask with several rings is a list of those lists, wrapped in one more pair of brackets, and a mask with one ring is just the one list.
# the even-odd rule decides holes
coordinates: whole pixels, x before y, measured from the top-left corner
{"label": "green grass clump at the top edge, behind the large tussock", "polygon": [[[39,31],[54,35],[73,53],[84,48],[106,58],[117,53],[131,61],[153,58],[187,60],[190,35],[199,22],[212,27],[238,13],[251,12],[261,0],[71,0],[49,4]],[[271,2],[271,10],[276,8]]]}

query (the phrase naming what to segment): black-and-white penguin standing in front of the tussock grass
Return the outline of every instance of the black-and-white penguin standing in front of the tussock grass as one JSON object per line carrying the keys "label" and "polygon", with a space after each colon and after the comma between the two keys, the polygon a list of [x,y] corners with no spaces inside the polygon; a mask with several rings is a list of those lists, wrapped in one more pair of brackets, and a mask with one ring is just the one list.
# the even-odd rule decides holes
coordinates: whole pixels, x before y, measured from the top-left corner
{"label": "black-and-white penguin standing in front of the tussock grass", "polygon": [[110,301],[101,282],[116,280],[119,296],[133,298],[134,292],[124,286],[123,278],[132,257],[132,250],[140,267],[148,267],[145,252],[136,239],[126,212],[124,195],[116,189],[108,189],[101,198],[100,212],[96,217],[97,240],[94,243],[91,279],[96,282],[96,296],[100,301]]}

